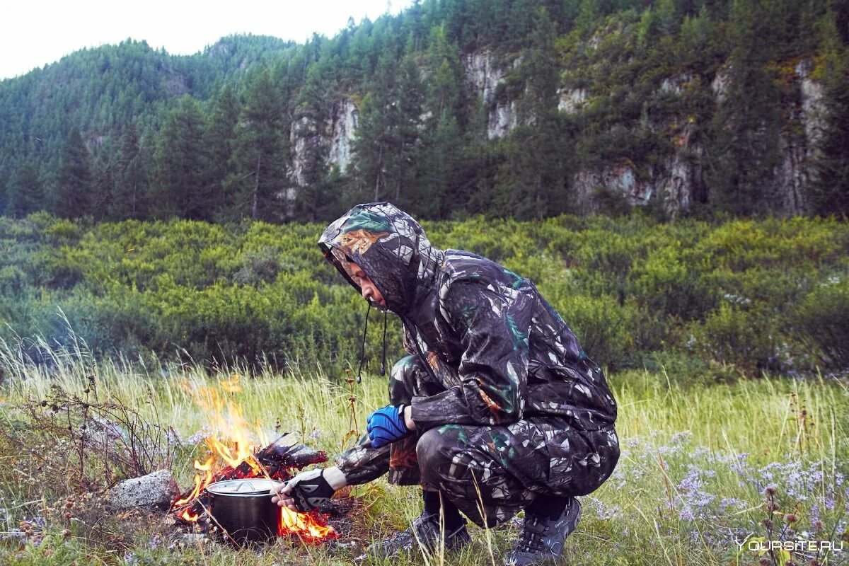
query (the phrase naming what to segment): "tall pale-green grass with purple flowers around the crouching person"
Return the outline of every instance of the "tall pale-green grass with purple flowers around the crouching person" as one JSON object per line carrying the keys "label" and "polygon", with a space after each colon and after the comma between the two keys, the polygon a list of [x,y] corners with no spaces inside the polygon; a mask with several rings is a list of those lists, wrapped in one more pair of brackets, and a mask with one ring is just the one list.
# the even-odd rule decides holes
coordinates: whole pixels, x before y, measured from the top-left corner
{"label": "tall pale-green grass with purple flowers around the crouching person", "polygon": [[[212,420],[190,392],[217,387],[221,380],[239,373],[232,368],[209,378],[193,366],[131,369],[120,362],[94,364],[84,349],[57,356],[41,367],[13,357],[12,348],[0,347],[5,368],[0,426],[20,423],[24,418],[20,404],[48,399],[51,386],[84,397],[87,375],[95,374],[100,399],[134,404],[147,418],[156,415],[161,423],[171,423],[183,442]],[[735,556],[732,536],[770,538],[762,525],[767,518],[763,489],[769,484],[777,490],[779,505],[773,513],[773,530],[786,524],[784,515],[794,513],[798,520],[793,526],[800,535],[807,531],[804,535],[809,539],[837,543],[846,538],[849,483],[841,475],[849,472],[846,384],[824,378],[709,384],[695,377],[662,372],[610,376],[620,405],[621,460],[607,483],[582,498],[582,522],[567,541],[564,563],[757,563],[755,552]],[[293,440],[304,440],[332,457],[353,442],[348,434],[349,387],[356,397],[361,433],[365,415],[386,399],[385,378],[369,374],[362,384],[352,385],[343,378],[320,369],[288,375],[261,373],[240,379],[242,390],[232,397],[242,407],[245,420],[259,423],[267,435],[274,434],[279,420],[281,429],[293,432]],[[10,533],[20,528],[21,519],[44,517],[44,510],[65,492],[61,486],[43,483],[31,456],[10,453],[8,446],[0,448],[4,446],[7,450],[0,452],[0,507],[5,508],[0,514],[0,520],[5,518],[5,524],[0,523],[4,533],[0,563],[111,564],[125,563],[127,558],[140,564],[341,564],[362,552],[361,546],[307,548],[290,541],[278,541],[258,553],[209,543],[169,549],[167,535],[173,529],[158,518],[135,515],[101,518],[98,529],[109,536],[86,530],[80,523],[94,519],[81,513],[81,518],[70,522],[61,516],[48,517],[46,524],[34,527],[33,535],[14,538]],[[203,446],[176,452],[174,472],[180,485],[190,485],[192,458],[203,454]],[[363,503],[363,513],[352,518],[360,544],[403,528],[419,513],[417,488],[387,485],[381,479],[358,487],[351,495]],[[823,523],[819,533],[812,525],[814,506]],[[693,518],[688,517],[688,508]],[[70,532],[63,534],[65,529]],[[470,548],[448,554],[444,560],[431,557],[429,562],[490,564],[494,560],[498,564],[518,532],[510,525],[472,531],[475,542]],[[151,542],[157,534],[160,539]],[[778,536],[773,532],[772,538]],[[820,555],[820,563],[840,563],[844,557]],[[781,557],[776,557],[774,563],[780,562]]]}

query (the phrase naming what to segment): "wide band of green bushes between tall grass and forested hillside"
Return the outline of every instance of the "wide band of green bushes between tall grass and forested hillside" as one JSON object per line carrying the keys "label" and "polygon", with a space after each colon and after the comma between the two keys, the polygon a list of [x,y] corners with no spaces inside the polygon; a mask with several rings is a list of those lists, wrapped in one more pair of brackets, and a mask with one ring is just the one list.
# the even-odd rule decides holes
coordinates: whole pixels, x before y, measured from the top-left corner
{"label": "wide band of green bushes between tall grass and forested hillside", "polygon": [[[323,228],[0,217],[0,338],[41,333],[68,345],[70,324],[98,356],[356,366],[366,305],[322,260],[315,243]],[[530,277],[604,365],[686,358],[717,378],[734,368],[849,365],[845,223],[659,223],[633,214],[478,216],[424,228],[438,247]],[[373,370],[382,322],[379,313],[369,322]],[[387,336],[391,362],[402,354],[395,317]]]}

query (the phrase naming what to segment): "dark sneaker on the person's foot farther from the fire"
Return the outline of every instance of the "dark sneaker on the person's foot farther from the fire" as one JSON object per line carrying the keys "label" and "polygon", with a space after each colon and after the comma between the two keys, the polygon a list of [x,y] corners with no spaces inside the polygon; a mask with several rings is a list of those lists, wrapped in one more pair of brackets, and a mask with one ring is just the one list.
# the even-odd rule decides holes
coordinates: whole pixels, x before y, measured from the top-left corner
{"label": "dark sneaker on the person's foot farther from the fire", "polygon": [[540,518],[525,511],[525,526],[504,566],[530,566],[560,558],[563,541],[581,518],[581,503],[571,497],[559,518]]}

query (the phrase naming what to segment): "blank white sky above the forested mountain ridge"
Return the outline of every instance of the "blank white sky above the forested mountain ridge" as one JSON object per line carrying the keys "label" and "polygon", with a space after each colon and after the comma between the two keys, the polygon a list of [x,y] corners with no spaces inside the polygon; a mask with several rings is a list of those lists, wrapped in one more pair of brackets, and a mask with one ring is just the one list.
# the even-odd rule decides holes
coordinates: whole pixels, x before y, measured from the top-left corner
{"label": "blank white sky above the forested mountain ridge", "polygon": [[145,40],[191,54],[222,36],[251,33],[304,42],[334,36],[353,16],[375,20],[410,0],[2,0],[0,79],[19,76],[82,48]]}

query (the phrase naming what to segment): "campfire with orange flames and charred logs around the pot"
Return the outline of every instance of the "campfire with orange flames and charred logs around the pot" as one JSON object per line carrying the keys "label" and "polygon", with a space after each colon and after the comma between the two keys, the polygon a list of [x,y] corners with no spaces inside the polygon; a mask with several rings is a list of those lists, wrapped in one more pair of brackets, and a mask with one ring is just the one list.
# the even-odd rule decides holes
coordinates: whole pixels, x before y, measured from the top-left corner
{"label": "campfire with orange flames and charred logs around the pot", "polygon": [[[234,401],[233,395],[240,391],[238,375],[220,382],[217,388],[188,389],[209,419],[210,434],[205,437],[205,444],[210,456],[205,462],[194,461],[194,485],[173,502],[171,513],[179,522],[194,525],[202,532],[222,530],[210,514],[211,496],[205,492],[208,485],[228,479],[286,481],[301,468],[327,461],[324,452],[284,443],[285,434],[267,442],[259,424],[251,427],[241,406]],[[251,441],[254,437],[259,442]],[[292,535],[312,544],[336,537],[323,513],[295,513],[287,507],[280,507],[277,531],[278,536]],[[229,536],[226,532],[222,535]]]}

